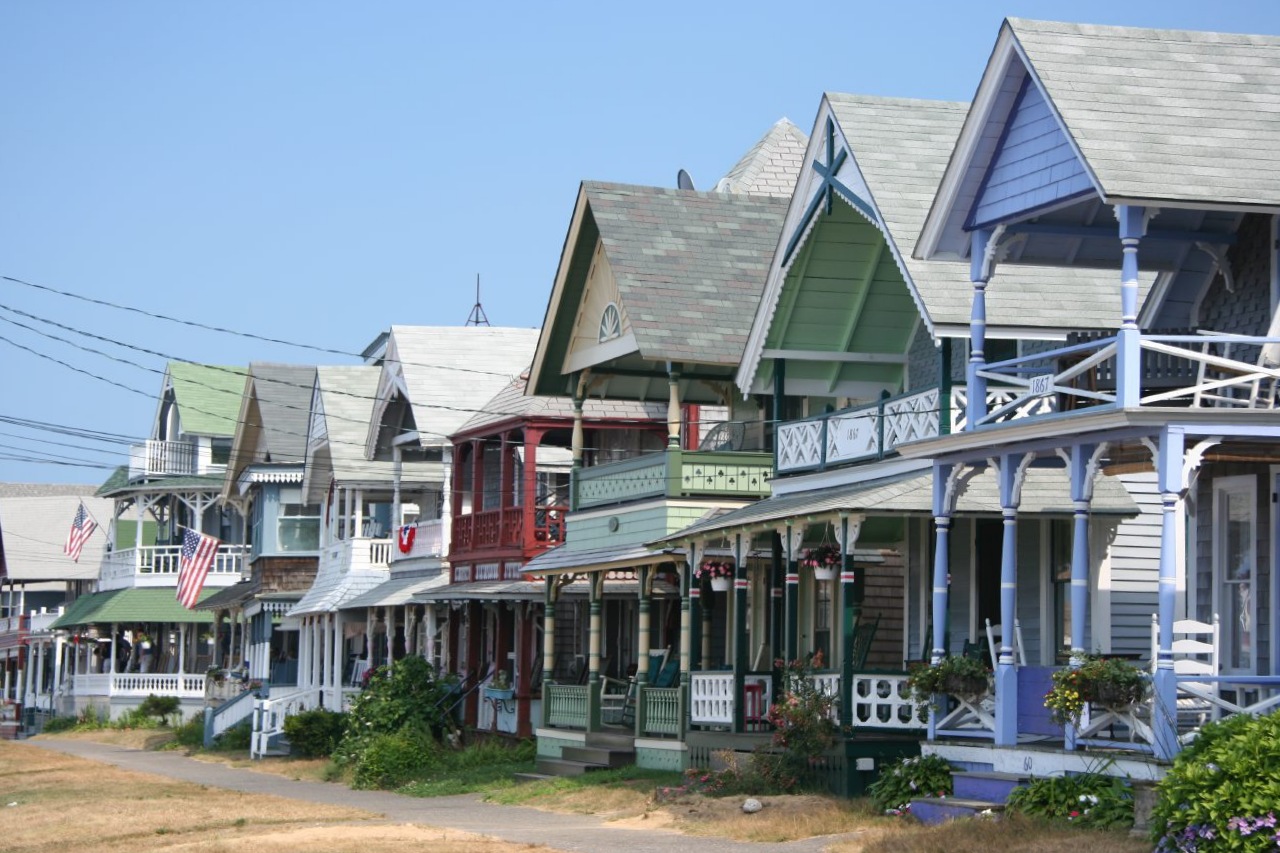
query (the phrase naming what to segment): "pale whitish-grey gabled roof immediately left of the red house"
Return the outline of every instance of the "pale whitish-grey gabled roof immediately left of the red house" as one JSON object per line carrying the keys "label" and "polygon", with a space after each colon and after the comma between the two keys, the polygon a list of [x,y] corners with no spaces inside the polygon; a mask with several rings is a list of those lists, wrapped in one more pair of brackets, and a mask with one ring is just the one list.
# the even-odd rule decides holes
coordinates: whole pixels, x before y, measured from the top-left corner
{"label": "pale whitish-grey gabled roof immediately left of the red house", "polygon": [[365,438],[372,455],[390,400],[407,400],[419,441],[447,446],[474,414],[529,368],[538,329],[393,325]]}

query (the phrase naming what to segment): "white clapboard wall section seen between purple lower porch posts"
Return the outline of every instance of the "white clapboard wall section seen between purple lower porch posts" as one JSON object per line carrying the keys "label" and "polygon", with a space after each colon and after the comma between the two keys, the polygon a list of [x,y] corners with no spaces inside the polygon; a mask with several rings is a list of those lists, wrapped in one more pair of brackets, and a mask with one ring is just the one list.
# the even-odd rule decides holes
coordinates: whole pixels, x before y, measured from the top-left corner
{"label": "white clapboard wall section seen between purple lower porch posts", "polygon": [[1160,489],[1155,473],[1119,475],[1138,515],[1120,521],[1111,543],[1111,651],[1151,653],[1151,615],[1158,606]]}

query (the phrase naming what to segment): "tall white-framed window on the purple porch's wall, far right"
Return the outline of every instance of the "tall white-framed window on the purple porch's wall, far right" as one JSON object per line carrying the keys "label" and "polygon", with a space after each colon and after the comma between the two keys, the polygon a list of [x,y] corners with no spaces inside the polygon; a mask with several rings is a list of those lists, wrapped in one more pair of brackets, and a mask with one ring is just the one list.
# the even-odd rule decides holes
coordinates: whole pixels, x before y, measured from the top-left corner
{"label": "tall white-framed window on the purple porch's wall, far right", "polygon": [[1222,622],[1222,669],[1230,672],[1257,666],[1257,512],[1253,476],[1213,482],[1213,610]]}

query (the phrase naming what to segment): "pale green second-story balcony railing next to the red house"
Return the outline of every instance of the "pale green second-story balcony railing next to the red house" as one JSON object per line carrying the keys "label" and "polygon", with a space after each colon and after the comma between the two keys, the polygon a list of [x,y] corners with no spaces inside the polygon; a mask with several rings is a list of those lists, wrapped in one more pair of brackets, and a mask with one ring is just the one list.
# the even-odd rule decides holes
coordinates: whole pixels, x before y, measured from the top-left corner
{"label": "pale green second-story balcony railing next to the red house", "polygon": [[769,494],[772,453],[666,450],[575,471],[575,510],[654,497],[730,497]]}

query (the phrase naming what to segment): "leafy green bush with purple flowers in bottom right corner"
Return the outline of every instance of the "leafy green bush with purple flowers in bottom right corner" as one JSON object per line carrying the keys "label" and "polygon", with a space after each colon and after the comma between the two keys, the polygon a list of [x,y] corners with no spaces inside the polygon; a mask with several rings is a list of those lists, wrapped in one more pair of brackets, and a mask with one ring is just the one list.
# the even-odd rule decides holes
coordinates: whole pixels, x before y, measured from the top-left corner
{"label": "leafy green bush with purple flowers in bottom right corner", "polygon": [[1157,788],[1158,850],[1280,845],[1280,711],[1206,725]]}

